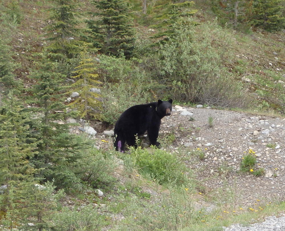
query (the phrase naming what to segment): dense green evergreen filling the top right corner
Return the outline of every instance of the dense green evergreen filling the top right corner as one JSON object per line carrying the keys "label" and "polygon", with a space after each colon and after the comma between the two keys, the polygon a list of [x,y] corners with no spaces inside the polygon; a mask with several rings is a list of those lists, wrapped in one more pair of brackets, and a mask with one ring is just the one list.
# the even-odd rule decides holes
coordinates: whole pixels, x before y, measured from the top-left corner
{"label": "dense green evergreen filling the top right corner", "polygon": [[284,3],[284,0],[255,0],[253,2],[254,25],[268,31],[284,28],[285,17],[282,17],[281,3]]}

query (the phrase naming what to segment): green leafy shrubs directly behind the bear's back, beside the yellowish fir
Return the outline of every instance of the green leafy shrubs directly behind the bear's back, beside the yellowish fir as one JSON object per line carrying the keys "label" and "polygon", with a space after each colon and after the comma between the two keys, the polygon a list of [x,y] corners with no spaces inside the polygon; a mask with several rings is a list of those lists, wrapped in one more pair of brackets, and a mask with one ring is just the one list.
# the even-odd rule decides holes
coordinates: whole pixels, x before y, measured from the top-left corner
{"label": "green leafy shrubs directly behind the bear's back, beside the yellowish fir", "polygon": [[101,60],[98,73],[101,79],[109,82],[102,90],[102,116],[103,120],[113,124],[127,108],[150,101],[148,91],[152,83],[147,74],[134,67],[130,60],[105,55],[98,57]]}

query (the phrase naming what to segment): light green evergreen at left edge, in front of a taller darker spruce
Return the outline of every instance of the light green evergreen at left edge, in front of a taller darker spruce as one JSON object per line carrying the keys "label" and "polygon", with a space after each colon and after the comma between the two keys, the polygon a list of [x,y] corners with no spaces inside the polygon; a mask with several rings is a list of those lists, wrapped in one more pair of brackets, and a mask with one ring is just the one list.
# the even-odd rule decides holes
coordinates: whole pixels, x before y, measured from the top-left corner
{"label": "light green evergreen at left edge, in front of a taller darker spruce", "polygon": [[35,154],[36,140],[29,136],[31,113],[23,109],[11,92],[5,103],[0,107],[0,185],[7,186],[4,206],[10,208],[11,186],[33,181],[35,169],[28,159]]}

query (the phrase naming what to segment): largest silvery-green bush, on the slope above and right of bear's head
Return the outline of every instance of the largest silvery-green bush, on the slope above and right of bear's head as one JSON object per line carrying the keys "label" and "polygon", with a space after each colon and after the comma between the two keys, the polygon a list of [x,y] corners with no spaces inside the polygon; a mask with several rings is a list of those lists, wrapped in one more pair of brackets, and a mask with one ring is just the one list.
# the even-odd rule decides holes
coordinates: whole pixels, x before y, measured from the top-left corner
{"label": "largest silvery-green bush, on the slope above and right of bear's head", "polygon": [[[160,46],[160,76],[171,83],[173,99],[219,107],[247,105],[243,87],[221,68],[223,57],[211,45],[211,36],[204,36],[210,28],[202,27],[203,34],[195,34],[193,26],[178,27],[176,40]],[[215,30],[221,34],[221,29]]]}

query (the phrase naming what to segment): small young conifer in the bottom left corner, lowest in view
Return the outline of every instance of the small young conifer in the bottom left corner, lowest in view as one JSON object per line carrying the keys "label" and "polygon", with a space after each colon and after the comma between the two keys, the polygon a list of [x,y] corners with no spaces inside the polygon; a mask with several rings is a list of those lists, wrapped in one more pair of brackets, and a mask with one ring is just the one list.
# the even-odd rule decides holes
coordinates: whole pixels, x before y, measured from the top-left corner
{"label": "small young conifer in the bottom left corner, lowest in view", "polygon": [[52,215],[57,211],[63,191],[54,192],[52,183],[38,185],[21,182],[9,191],[13,209],[7,211],[4,224],[17,224],[19,230],[56,230]]}

